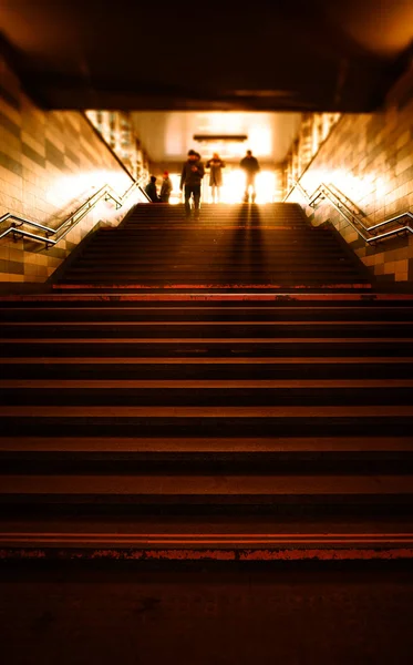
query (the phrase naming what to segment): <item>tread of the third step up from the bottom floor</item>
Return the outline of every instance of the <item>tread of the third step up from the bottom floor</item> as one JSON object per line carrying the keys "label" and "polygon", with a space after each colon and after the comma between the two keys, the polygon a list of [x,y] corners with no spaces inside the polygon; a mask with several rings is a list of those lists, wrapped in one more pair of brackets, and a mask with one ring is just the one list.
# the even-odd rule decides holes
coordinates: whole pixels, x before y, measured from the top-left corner
{"label": "tread of the third step up from the bottom floor", "polygon": [[[85,456],[110,457],[133,454],[136,459],[172,459],[182,460],[183,456],[192,459],[200,456],[207,460],[209,456],[217,459],[234,459],[240,456],[251,460],[270,454],[282,459],[283,456],[300,457],[308,461],[311,456],[343,459],[371,459],[378,456],[389,459],[413,452],[413,436],[383,437],[0,437],[0,453],[84,453]],[[141,456],[141,457],[140,457]],[[173,458],[171,456],[174,456]],[[180,457],[179,457],[180,456]],[[33,458],[31,458],[33,459]],[[130,458],[127,458],[130,459]],[[267,459],[267,458],[265,458]]]}

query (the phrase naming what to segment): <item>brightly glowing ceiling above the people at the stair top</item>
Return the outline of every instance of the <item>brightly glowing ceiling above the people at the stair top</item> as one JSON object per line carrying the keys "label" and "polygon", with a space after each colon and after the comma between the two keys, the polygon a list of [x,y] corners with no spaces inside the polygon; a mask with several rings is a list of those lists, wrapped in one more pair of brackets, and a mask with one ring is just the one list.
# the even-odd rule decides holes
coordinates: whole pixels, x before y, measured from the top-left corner
{"label": "brightly glowing ceiling above the people at the stair top", "polygon": [[[238,162],[246,150],[262,162],[281,162],[296,137],[299,113],[265,112],[137,112],[133,121],[152,162],[176,162],[186,158],[194,147],[203,157],[219,152],[226,161]],[[245,143],[196,143],[194,134],[246,134]]]}

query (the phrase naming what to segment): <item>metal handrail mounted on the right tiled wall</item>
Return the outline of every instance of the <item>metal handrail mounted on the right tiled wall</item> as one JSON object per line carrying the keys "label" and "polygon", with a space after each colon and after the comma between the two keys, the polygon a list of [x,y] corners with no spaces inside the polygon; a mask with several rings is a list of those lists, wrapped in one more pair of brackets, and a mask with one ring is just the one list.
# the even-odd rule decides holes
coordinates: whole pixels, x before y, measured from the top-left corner
{"label": "metal handrail mounted on the right tiled wall", "polygon": [[[344,194],[338,194],[333,191],[332,185],[327,185],[326,183],[321,183],[317,190],[310,195],[304,187],[301,185],[299,181],[295,181],[292,190],[289,192],[287,197],[291,194],[293,188],[299,190],[302,196],[307,200],[309,206],[316,207],[319,201],[323,198],[328,198],[330,204],[340,213],[340,215],[352,226],[352,228],[363,238],[363,241],[368,244],[374,244],[380,241],[386,241],[390,237],[401,235],[402,233],[413,233],[413,226],[410,224],[404,224],[400,228],[393,228],[385,233],[381,233],[376,235],[376,231],[383,228],[384,226],[389,226],[391,224],[397,224],[401,219],[405,219],[409,217],[413,219],[413,213],[406,211],[405,213],[401,213],[400,215],[395,215],[390,217],[389,219],[384,219],[384,222],[380,222],[379,224],[374,224],[372,226],[365,226],[363,221],[360,218],[361,213],[357,211],[357,206],[354,204],[351,209],[350,205],[347,202],[350,202]],[[286,198],[287,198],[286,197]],[[285,198],[285,201],[286,201]],[[347,201],[344,201],[344,198]]]}

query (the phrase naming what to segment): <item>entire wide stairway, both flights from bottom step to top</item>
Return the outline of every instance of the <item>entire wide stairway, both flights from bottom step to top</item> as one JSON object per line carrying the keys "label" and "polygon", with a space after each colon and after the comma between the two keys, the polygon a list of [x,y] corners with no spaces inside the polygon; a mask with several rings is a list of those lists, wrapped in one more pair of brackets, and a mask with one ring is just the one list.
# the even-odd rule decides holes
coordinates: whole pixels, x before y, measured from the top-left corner
{"label": "entire wide stairway, both flights from bottom step to top", "polygon": [[413,301],[296,206],[138,206],[0,330],[2,556],[412,557]]}

